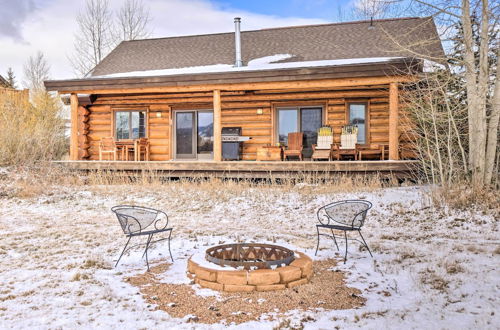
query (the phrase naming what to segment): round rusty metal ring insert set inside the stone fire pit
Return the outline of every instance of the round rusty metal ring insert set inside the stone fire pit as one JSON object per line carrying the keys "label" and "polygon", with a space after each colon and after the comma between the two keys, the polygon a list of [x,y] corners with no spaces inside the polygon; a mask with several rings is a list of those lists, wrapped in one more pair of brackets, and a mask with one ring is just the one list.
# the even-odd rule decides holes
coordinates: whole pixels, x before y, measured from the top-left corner
{"label": "round rusty metal ring insert set inside the stone fire pit", "polygon": [[217,245],[207,249],[205,258],[220,266],[269,269],[271,266],[289,265],[294,252],[272,244],[236,243]]}

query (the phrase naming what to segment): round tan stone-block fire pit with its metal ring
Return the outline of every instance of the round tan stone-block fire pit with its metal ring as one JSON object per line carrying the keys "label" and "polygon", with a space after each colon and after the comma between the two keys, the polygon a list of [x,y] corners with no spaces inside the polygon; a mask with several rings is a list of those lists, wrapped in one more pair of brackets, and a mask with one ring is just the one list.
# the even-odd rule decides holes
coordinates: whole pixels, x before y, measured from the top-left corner
{"label": "round tan stone-block fire pit with its metal ring", "polygon": [[271,291],[309,282],[311,258],[278,245],[238,243],[211,247],[188,261],[201,287],[227,292]]}

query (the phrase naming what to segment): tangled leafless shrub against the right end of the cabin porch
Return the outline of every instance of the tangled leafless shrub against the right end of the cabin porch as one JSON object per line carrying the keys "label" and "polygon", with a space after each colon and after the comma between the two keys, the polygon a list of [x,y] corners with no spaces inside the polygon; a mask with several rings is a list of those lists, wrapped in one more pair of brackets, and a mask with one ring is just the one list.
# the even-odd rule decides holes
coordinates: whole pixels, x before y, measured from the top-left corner
{"label": "tangled leafless shrub against the right end of the cabin porch", "polygon": [[[406,130],[427,182],[452,185],[468,177],[467,107],[453,93],[457,78],[448,71],[422,75],[402,95]],[[455,92],[457,93],[457,92]]]}

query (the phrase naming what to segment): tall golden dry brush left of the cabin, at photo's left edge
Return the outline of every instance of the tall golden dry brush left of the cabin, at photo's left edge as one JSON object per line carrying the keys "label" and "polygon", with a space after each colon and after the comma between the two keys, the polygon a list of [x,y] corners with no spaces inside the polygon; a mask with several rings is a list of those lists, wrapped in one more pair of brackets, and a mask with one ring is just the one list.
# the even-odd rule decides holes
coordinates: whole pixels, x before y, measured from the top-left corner
{"label": "tall golden dry brush left of the cabin, at photo's left edge", "polygon": [[68,149],[58,101],[39,92],[0,95],[0,165],[60,159]]}

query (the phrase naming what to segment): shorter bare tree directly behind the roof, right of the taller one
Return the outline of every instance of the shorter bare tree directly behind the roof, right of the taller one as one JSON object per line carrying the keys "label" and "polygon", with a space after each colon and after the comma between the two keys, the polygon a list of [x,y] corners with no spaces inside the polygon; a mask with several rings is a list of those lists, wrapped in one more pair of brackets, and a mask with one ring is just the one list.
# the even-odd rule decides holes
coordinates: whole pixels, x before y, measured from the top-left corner
{"label": "shorter bare tree directly behind the roof, right of the taller one", "polygon": [[148,28],[151,18],[142,0],[126,0],[118,12],[121,40],[144,39],[151,35]]}

